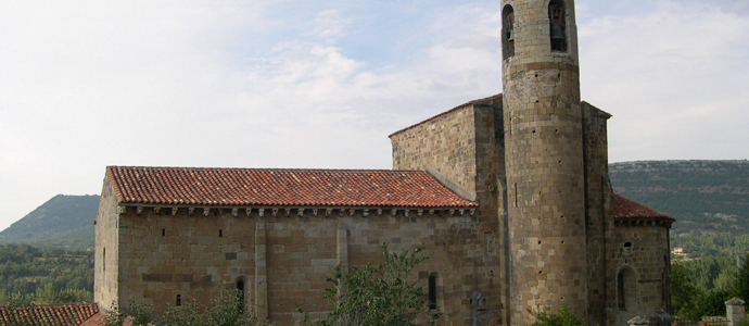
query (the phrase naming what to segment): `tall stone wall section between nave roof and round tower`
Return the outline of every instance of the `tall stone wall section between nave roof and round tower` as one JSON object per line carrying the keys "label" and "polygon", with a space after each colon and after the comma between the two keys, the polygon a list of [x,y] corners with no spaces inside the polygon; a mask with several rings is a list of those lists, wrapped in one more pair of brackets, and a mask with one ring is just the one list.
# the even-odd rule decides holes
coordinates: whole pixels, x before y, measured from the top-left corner
{"label": "tall stone wall section between nave roof and round tower", "polygon": [[[502,183],[505,171],[502,117],[502,96],[495,96],[458,106],[391,136],[394,168],[427,170],[458,195],[480,203],[478,223],[470,237],[481,247],[456,251],[454,260],[461,262],[462,279],[454,283],[446,279],[445,284],[447,290],[452,289],[446,297],[455,301],[446,306],[470,308],[474,292],[491,303],[477,313],[475,318],[485,323],[507,318],[503,315],[509,281],[503,263],[507,259],[506,221],[498,215],[505,210],[503,195],[507,195]],[[435,239],[440,241],[439,237]]]}

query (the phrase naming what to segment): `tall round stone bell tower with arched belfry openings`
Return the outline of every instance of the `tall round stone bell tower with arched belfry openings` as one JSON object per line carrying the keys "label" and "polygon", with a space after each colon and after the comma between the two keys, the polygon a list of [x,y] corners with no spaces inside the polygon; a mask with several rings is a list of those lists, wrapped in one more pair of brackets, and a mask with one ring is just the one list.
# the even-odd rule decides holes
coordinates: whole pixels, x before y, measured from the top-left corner
{"label": "tall round stone bell tower with arched belfry openings", "polygon": [[587,315],[583,117],[573,0],[503,0],[510,325]]}

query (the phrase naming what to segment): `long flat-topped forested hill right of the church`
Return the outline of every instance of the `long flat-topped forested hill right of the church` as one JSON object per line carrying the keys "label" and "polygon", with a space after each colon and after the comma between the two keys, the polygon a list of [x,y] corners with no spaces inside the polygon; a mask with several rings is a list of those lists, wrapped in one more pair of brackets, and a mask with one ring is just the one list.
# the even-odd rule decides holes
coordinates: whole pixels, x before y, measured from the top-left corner
{"label": "long flat-topped forested hill right of the church", "polygon": [[676,217],[673,234],[749,230],[749,161],[612,163],[613,190]]}

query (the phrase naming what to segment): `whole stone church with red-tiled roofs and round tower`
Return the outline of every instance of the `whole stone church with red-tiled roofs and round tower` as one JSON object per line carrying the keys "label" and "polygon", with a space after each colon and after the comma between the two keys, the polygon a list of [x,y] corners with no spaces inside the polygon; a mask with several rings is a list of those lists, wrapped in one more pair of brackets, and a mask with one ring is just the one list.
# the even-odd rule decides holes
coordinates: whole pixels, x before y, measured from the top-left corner
{"label": "whole stone church with red-tiled roofs and round tower", "polygon": [[[94,300],[156,313],[221,289],[279,325],[325,276],[426,248],[441,325],[589,325],[670,311],[673,218],[612,192],[608,113],[582,102],[573,0],[502,0],[503,93],[395,131],[393,170],[109,166]],[[500,28],[497,26],[497,28]],[[499,77],[499,76],[497,76]]]}

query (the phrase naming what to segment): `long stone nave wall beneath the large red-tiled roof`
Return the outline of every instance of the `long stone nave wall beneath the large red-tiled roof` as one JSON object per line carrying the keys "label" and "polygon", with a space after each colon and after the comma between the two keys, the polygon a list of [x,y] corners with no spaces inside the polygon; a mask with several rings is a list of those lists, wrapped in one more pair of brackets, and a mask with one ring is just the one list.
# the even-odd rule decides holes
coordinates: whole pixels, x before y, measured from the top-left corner
{"label": "long stone nave wall beneath the large red-tiled roof", "polygon": [[[242,281],[246,309],[279,325],[300,325],[297,306],[314,316],[332,309],[322,290],[337,264],[377,263],[380,244],[389,242],[391,251],[426,248],[430,259],[415,276],[424,289],[429,276],[437,277],[441,325],[469,325],[477,316],[482,325],[499,322],[500,302],[491,296],[499,289],[499,269],[484,262],[494,249],[471,211],[255,208],[247,215],[246,209],[127,206],[118,217],[118,226],[106,227],[118,233],[113,299],[124,309],[144,300],[163,314],[177,296],[182,304],[207,305]],[[98,242],[110,242],[111,234],[100,233]],[[97,292],[116,285],[98,284]],[[481,312],[471,309],[477,291],[487,298]]]}

